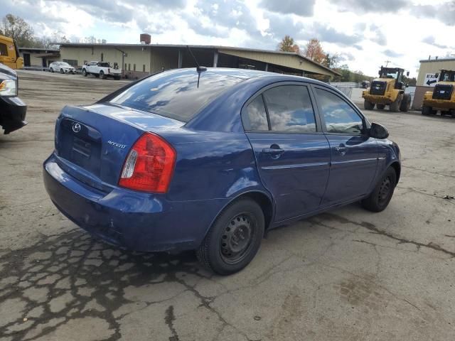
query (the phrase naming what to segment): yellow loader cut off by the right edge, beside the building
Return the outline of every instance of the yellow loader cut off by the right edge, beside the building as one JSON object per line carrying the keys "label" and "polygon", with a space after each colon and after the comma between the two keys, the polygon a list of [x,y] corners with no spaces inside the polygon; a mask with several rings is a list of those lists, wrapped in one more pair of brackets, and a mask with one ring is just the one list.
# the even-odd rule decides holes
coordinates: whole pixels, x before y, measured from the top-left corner
{"label": "yellow loader cut off by the right edge, beside the building", "polygon": [[439,80],[433,91],[424,94],[422,115],[434,115],[441,110],[441,116],[451,114],[455,117],[455,71],[441,70]]}

